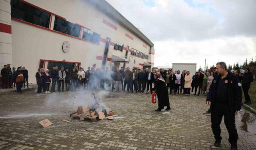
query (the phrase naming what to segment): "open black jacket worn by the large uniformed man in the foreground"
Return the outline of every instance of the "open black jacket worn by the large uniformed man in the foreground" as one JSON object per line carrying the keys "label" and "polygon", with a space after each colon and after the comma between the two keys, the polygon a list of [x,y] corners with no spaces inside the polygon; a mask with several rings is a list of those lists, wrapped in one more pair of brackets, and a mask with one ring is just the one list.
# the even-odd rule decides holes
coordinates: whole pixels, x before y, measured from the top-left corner
{"label": "open black jacket worn by the large uniformed man in the foreground", "polygon": [[[237,76],[228,71],[228,106],[231,112],[235,112],[236,110],[240,110],[242,107],[242,88],[239,83],[239,79]],[[209,93],[207,95],[206,101],[211,102],[212,110],[215,107],[216,94],[218,88],[218,79],[220,75],[214,75],[212,84],[210,85]]]}

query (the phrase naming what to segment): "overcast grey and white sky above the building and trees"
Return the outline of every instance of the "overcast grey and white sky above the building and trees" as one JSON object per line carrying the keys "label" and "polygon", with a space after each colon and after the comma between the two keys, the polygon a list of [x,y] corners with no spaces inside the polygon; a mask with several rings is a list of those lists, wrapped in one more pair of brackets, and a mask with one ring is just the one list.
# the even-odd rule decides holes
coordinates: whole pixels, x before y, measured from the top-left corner
{"label": "overcast grey and white sky above the building and trees", "polygon": [[155,45],[154,66],[256,56],[256,0],[107,0]]}

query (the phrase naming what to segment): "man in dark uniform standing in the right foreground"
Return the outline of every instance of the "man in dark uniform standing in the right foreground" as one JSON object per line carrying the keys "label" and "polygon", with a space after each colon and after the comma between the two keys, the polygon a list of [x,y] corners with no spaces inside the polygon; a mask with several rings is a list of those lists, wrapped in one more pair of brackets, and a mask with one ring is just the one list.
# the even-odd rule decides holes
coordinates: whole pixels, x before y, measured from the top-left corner
{"label": "man in dark uniform standing in the right foreground", "polygon": [[235,114],[242,106],[241,84],[237,76],[227,71],[225,62],[216,64],[218,76],[214,76],[206,99],[206,104],[211,104],[212,132],[214,134],[214,146],[220,147],[220,123],[224,116],[224,122],[229,133],[228,141],[231,150],[237,150],[238,134],[235,124]]}

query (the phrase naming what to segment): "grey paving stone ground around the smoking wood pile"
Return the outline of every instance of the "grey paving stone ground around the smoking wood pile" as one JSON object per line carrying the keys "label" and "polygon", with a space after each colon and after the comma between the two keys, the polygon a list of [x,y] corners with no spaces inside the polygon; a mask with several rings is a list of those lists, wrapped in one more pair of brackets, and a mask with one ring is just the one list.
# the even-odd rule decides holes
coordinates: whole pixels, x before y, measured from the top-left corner
{"label": "grey paving stone ground around the smoking wood pile", "polygon": [[[150,94],[96,92],[121,118],[98,122],[72,120],[77,106],[87,105],[92,92],[0,93],[1,150],[212,150],[214,137],[204,96],[170,95],[171,111],[155,112]],[[123,118],[122,118],[123,117]],[[48,118],[53,125],[38,123]],[[224,120],[223,120],[224,121]],[[236,115],[240,150],[256,149],[256,117],[242,109]],[[230,150],[222,128],[219,150]]]}

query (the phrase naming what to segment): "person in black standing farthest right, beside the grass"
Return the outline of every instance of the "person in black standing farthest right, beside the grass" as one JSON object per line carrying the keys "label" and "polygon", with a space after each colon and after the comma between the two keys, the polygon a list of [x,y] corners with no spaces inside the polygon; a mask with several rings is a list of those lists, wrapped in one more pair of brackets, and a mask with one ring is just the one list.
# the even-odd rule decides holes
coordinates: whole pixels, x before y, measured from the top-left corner
{"label": "person in black standing farthest right, beside the grass", "polygon": [[251,82],[253,82],[253,75],[250,72],[249,68],[245,68],[244,75],[242,76],[242,88],[244,91],[244,98],[245,98],[244,104],[252,104],[250,96],[248,94],[249,88],[251,86]]}

